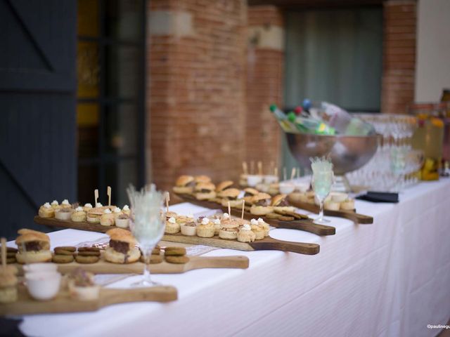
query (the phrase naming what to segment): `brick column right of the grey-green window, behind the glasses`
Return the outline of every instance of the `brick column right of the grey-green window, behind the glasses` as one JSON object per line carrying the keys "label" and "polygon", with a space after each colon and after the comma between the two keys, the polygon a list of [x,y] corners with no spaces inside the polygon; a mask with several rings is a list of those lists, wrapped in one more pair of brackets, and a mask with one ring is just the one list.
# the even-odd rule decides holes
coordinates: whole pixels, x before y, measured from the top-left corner
{"label": "brick column right of the grey-green window, behind the glasses", "polygon": [[385,1],[381,111],[406,113],[414,100],[416,1]]}

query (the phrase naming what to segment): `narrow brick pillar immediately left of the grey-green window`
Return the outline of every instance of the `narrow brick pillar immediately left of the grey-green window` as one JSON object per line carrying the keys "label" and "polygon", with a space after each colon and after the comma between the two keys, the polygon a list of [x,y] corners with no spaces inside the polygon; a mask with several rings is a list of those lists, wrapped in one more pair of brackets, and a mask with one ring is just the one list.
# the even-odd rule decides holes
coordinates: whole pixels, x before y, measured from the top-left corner
{"label": "narrow brick pillar immediately left of the grey-green window", "polygon": [[245,158],[280,164],[281,131],[269,105],[283,107],[283,13],[275,6],[248,8],[247,123]]}

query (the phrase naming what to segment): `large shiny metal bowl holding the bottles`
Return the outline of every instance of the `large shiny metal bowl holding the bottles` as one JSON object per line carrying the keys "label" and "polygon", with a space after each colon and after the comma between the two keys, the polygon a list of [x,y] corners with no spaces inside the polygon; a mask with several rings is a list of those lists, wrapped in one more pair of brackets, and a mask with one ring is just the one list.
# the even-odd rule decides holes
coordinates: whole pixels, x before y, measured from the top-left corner
{"label": "large shiny metal bowl holding the bottles", "polygon": [[323,136],[306,133],[286,133],[290,153],[301,166],[310,167],[309,157],[330,154],[333,171],[343,176],[364,166],[375,154],[380,135]]}

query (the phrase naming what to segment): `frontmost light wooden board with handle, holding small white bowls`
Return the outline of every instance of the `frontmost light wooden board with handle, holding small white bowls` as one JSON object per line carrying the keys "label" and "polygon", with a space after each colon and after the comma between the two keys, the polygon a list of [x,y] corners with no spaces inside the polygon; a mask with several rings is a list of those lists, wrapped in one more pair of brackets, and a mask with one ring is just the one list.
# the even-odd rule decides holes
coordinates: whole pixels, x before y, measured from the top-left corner
{"label": "frontmost light wooden board with handle, holding small white bowls", "polygon": [[61,290],[53,300],[34,300],[25,286],[18,286],[18,300],[14,303],[0,304],[0,315],[32,315],[60,312],[96,311],[108,305],[130,302],[169,302],[176,300],[178,293],[173,286],[152,286],[135,289],[100,290],[97,300],[76,300],[67,290]]}

